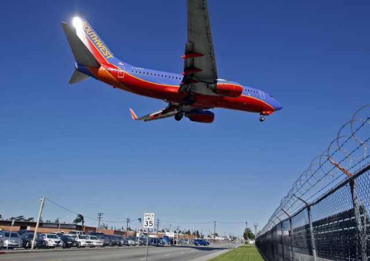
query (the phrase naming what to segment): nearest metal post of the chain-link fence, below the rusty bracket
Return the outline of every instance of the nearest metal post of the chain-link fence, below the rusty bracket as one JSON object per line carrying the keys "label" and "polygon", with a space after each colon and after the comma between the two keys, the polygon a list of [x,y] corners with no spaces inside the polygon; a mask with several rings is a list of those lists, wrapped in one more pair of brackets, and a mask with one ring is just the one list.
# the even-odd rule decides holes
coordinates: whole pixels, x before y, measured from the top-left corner
{"label": "nearest metal post of the chain-link fence, below the rusty bracket", "polygon": [[[356,220],[356,230],[357,230],[357,235],[360,239],[360,245],[361,245],[361,261],[367,261],[366,232],[363,228],[363,225],[361,224],[361,214],[360,214],[360,210],[359,210],[359,204],[357,202],[356,184],[355,184],[353,178],[350,178],[349,184],[350,184],[350,188],[351,188],[354,217],[355,217],[355,220]],[[366,222],[366,220],[365,220],[365,222]]]}

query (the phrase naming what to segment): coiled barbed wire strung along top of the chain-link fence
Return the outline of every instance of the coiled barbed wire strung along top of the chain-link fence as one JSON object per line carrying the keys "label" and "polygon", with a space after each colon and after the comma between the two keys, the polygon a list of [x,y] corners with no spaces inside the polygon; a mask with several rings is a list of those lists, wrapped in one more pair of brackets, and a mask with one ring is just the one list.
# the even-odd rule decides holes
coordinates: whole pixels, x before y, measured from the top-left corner
{"label": "coiled barbed wire strung along top of the chain-link fence", "polygon": [[301,200],[310,201],[313,197],[323,195],[326,190],[338,184],[339,179],[345,176],[342,170],[334,164],[339,164],[347,171],[355,173],[356,167],[370,159],[369,109],[370,104],[359,108],[351,120],[342,125],[327,149],[313,158],[307,170],[303,171],[287,195],[282,198],[259,235],[269,231],[281,220],[295,214],[304,205]]}

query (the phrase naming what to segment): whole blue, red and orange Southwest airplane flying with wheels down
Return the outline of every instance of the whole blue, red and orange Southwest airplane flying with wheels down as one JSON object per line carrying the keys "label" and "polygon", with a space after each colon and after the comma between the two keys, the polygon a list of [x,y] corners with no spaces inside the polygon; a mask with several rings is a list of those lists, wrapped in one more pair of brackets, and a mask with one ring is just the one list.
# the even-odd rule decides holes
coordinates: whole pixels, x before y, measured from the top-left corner
{"label": "whole blue, red and orange Southwest airplane flying with wheels down", "polygon": [[164,100],[168,106],[134,120],[158,120],[183,116],[191,121],[212,123],[211,108],[259,113],[259,120],[282,106],[268,93],[219,79],[206,0],[187,0],[188,41],[185,44],[184,71],[181,74],[132,66],[116,58],[90,24],[74,17],[72,26],[62,27],[75,57],[75,71],[69,81],[77,83],[93,77],[114,88]]}

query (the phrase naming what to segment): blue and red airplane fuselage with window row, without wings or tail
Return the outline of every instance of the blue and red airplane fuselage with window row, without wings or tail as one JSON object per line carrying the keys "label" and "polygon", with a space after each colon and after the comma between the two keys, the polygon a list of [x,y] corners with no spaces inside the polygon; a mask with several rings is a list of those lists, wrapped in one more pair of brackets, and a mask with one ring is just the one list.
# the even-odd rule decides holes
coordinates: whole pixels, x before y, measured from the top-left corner
{"label": "blue and red airplane fuselage with window row, without wings or tail", "polygon": [[[132,93],[157,98],[172,104],[181,104],[188,95],[179,92],[183,76],[181,74],[150,70],[131,66],[118,59],[102,63],[100,68],[89,68],[76,64],[76,69],[97,80]],[[242,84],[219,79],[217,84],[235,84],[243,87],[239,97],[225,97],[211,90],[195,91],[195,101],[191,105],[201,108],[227,108],[269,115],[282,106],[265,91],[243,86]]]}

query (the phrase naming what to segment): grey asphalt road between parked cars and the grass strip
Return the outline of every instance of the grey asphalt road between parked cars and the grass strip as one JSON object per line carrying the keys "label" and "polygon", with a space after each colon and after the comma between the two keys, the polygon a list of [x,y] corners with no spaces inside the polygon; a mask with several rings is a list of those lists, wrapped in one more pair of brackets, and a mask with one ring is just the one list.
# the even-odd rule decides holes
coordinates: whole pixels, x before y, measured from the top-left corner
{"label": "grey asphalt road between parked cars and the grass strip", "polygon": [[[221,254],[228,249],[235,248],[240,244],[231,243],[217,243],[212,244],[209,247],[195,247],[189,246],[177,246],[177,247],[149,247],[148,260],[176,260],[176,261],[188,261],[188,260],[207,260],[214,255]],[[62,260],[74,260],[74,261],[113,261],[113,260],[127,260],[127,261],[138,261],[145,260],[146,248],[120,248],[120,249],[93,249],[83,250],[78,249],[74,251],[68,250],[50,250],[47,252],[32,252],[32,253],[13,253],[0,255],[0,261],[9,260],[26,260],[26,261],[62,261]]]}

